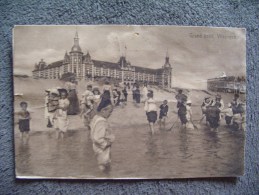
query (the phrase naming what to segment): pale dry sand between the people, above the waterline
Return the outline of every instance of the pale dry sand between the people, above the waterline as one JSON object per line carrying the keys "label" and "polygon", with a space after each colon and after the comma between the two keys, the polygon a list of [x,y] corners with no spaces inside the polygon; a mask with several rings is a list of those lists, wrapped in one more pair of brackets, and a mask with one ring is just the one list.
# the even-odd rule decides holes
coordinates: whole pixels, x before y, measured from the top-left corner
{"label": "pale dry sand between the people, above the waterline", "polygon": [[[22,94],[22,96],[15,96],[14,102],[14,111],[15,113],[20,109],[19,103],[21,101],[27,101],[29,106],[28,110],[31,113],[31,133],[35,131],[50,131],[46,127],[47,121],[44,119],[44,90],[52,87],[64,85],[63,82],[58,80],[34,80],[31,78],[15,78],[15,94]],[[78,85],[78,96],[80,97],[83,91],[85,90],[86,82],[80,82]],[[101,87],[101,86],[100,86]],[[167,126],[169,127],[173,121],[177,118],[177,109],[176,109],[176,101],[175,95],[176,90],[172,90],[171,93],[166,92],[164,90],[160,90],[159,88],[152,88],[154,90],[154,98],[157,101],[157,106],[161,104],[161,102],[165,99],[169,101],[169,113],[167,119]],[[198,120],[201,118],[201,109],[200,105],[204,97],[211,95],[215,95],[214,93],[208,94],[205,90],[185,90],[188,94],[189,98],[192,100],[192,110],[193,110],[193,118],[194,120]],[[228,102],[230,102],[233,98],[233,94],[231,93],[222,93],[222,98],[225,102],[225,106]],[[241,97],[244,98],[244,97]],[[109,121],[112,126],[118,126],[120,128],[127,128],[132,125],[146,125],[147,119],[146,114],[143,110],[144,103],[139,104],[139,106],[135,106],[132,100],[131,91],[129,91],[128,102],[125,106],[119,106],[114,109],[112,116]],[[15,117],[15,122],[17,119]],[[84,129],[84,125],[82,119],[76,116],[69,116],[69,130],[77,130]],[[223,121],[224,124],[224,121]],[[17,128],[17,124],[15,123],[15,132],[19,132]]]}

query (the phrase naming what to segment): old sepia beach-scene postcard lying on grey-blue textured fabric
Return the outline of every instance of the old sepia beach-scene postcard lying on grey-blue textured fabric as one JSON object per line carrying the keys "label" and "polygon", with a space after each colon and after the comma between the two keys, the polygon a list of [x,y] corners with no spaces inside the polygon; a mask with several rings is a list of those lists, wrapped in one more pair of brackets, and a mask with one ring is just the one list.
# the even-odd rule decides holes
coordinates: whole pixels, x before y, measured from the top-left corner
{"label": "old sepia beach-scene postcard lying on grey-blue textured fabric", "polygon": [[242,28],[13,29],[16,178],[244,174]]}

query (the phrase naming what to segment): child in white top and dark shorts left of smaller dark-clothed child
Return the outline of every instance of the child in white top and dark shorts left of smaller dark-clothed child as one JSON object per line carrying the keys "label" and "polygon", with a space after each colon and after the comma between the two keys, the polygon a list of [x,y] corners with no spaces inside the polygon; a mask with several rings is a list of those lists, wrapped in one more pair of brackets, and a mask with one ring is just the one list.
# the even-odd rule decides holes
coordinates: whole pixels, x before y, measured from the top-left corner
{"label": "child in white top and dark shorts left of smaller dark-clothed child", "polygon": [[154,94],[153,91],[149,91],[147,94],[148,99],[145,102],[144,110],[146,111],[147,120],[149,123],[151,134],[155,133],[154,124],[157,120],[157,106],[155,100],[153,99]]}

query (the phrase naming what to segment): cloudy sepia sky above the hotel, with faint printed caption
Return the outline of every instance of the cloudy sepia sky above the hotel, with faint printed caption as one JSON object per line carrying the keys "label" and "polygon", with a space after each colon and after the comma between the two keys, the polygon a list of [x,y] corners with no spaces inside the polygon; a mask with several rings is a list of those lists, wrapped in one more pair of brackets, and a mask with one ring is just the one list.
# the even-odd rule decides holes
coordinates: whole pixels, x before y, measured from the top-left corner
{"label": "cloudy sepia sky above the hotel, with faint printed caption", "polygon": [[31,76],[41,59],[47,64],[62,60],[71,51],[76,31],[83,53],[89,51],[95,60],[117,62],[126,55],[132,65],[160,68],[168,51],[174,87],[206,89],[206,80],[222,72],[229,76],[246,73],[245,29],[54,25],[14,28],[14,74]]}

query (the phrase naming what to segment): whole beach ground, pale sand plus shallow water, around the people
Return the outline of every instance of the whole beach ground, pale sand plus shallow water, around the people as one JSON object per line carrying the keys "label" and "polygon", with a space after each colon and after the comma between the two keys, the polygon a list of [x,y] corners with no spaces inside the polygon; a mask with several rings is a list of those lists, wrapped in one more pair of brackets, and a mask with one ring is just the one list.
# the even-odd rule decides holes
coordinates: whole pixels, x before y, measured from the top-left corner
{"label": "whole beach ground, pale sand plus shallow water, around the people", "polygon": [[[32,81],[33,88],[25,87]],[[109,118],[116,138],[112,145],[112,169],[104,174],[98,170],[89,130],[79,115],[69,116],[64,140],[56,140],[55,130],[46,127],[44,90],[63,83],[31,78],[15,78],[14,82],[14,93],[18,94],[14,111],[19,110],[19,102],[27,101],[32,117],[28,143],[21,141],[17,124],[14,126],[16,174],[20,178],[190,178],[243,173],[244,132],[226,128],[224,119],[217,132],[210,131],[205,122],[198,129],[181,128],[176,114],[177,90],[169,93],[152,88],[158,106],[164,99],[169,102],[166,128],[159,129],[156,124],[153,136],[144,103],[136,106],[129,91],[127,105],[116,107]],[[78,84],[79,97],[85,86],[86,82]],[[215,94],[206,90],[186,91],[192,100],[193,120],[197,121],[202,117],[200,105],[204,97]],[[221,95],[226,107],[233,94]],[[174,128],[166,131],[173,123]]]}

